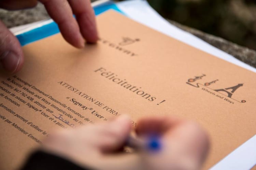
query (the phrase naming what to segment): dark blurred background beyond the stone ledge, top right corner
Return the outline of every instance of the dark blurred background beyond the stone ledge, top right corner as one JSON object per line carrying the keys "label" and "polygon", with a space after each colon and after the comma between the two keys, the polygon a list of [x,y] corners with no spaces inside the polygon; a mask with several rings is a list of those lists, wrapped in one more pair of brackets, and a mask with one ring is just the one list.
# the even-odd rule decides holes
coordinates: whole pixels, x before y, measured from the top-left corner
{"label": "dark blurred background beyond the stone ledge, top right corner", "polygon": [[256,50],[256,0],[148,0],[163,17]]}

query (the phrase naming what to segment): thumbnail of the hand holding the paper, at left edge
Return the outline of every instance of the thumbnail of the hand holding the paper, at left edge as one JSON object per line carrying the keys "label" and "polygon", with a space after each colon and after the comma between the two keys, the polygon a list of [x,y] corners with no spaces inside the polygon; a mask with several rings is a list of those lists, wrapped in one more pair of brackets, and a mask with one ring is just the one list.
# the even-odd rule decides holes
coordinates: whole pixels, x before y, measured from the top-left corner
{"label": "thumbnail of the hand holding the paper, at left edge", "polygon": [[15,72],[20,62],[20,56],[12,51],[5,51],[0,56],[0,62],[6,71]]}

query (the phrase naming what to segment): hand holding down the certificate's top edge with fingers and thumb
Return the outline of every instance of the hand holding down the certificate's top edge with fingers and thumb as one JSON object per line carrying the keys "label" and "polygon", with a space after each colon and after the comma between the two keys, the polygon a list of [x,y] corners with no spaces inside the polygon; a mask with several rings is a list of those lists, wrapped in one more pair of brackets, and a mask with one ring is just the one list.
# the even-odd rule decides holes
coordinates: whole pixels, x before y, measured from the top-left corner
{"label": "hand holding down the certificate's top edge with fingers and thumb", "polygon": [[[39,0],[58,24],[63,37],[77,48],[83,48],[85,40],[96,43],[98,34],[90,0]],[[19,10],[33,7],[37,0],[0,0],[0,8]],[[76,20],[73,17],[76,16]],[[84,40],[85,39],[85,40]],[[0,21],[0,66],[8,72],[19,71],[24,54],[17,38]]]}

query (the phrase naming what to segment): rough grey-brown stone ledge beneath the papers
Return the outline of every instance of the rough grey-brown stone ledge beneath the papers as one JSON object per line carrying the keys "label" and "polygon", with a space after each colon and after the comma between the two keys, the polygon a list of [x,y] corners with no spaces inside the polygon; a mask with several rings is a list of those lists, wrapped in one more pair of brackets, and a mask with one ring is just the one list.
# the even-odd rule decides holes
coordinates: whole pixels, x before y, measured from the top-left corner
{"label": "rough grey-brown stone ledge beneath the papers", "polygon": [[[40,3],[35,8],[28,10],[0,10],[0,19],[5,23],[8,28],[48,18],[49,16],[44,6]],[[183,26],[182,24],[179,24],[177,22],[171,20],[169,20],[169,22],[174,24],[176,27],[190,32],[191,34],[194,34],[195,36],[201,38],[209,44],[231,54],[232,56],[238,58],[244,63],[247,63],[256,68],[256,51],[231,43],[223,38],[219,38],[207,33],[203,33],[193,28]]]}

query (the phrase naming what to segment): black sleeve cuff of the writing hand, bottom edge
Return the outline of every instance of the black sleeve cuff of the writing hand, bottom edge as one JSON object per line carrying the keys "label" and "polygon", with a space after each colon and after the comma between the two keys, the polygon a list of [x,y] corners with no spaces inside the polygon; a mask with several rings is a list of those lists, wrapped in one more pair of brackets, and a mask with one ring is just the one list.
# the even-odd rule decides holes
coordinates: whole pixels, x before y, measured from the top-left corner
{"label": "black sleeve cuff of the writing hand, bottom edge", "polygon": [[82,168],[70,160],[43,151],[34,152],[21,170],[92,170]]}

